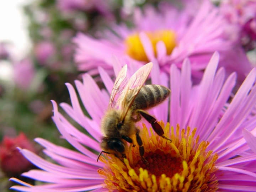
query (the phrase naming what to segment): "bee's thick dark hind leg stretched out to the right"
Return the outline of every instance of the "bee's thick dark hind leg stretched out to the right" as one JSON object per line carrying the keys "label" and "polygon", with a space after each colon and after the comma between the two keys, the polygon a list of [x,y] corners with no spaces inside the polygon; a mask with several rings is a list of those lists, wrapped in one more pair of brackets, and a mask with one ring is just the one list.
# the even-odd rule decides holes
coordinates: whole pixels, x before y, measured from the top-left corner
{"label": "bee's thick dark hind leg stretched out to the right", "polygon": [[137,110],[137,112],[140,113],[146,119],[146,121],[148,121],[151,124],[151,126],[154,129],[154,131],[156,132],[156,134],[158,134],[160,137],[172,142],[171,139],[164,136],[164,130],[162,129],[162,127],[156,121],[156,119],[154,117],[152,117],[150,114],[148,114],[147,112],[145,112],[143,110]]}

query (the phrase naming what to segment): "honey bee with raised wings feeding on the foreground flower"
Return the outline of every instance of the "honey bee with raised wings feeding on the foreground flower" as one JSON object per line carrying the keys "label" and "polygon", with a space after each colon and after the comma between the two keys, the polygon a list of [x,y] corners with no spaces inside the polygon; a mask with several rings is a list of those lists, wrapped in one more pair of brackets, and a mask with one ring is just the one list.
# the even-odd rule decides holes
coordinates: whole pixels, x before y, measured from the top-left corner
{"label": "honey bee with raised wings feeding on the foreground flower", "polygon": [[[125,80],[127,65],[119,72],[110,95],[108,110],[102,118],[103,138],[100,144],[102,151],[98,159],[102,153],[125,158],[126,142],[133,144],[131,136],[135,134],[140,156],[145,161],[143,142],[139,129],[135,126],[135,122],[140,121],[141,116],[151,123],[159,136],[168,139],[164,136],[164,130],[156,119],[144,111],[160,104],[170,95],[170,90],[165,86],[143,85],[152,66],[152,63],[142,66],[129,81]],[[171,141],[171,139],[168,140]]]}

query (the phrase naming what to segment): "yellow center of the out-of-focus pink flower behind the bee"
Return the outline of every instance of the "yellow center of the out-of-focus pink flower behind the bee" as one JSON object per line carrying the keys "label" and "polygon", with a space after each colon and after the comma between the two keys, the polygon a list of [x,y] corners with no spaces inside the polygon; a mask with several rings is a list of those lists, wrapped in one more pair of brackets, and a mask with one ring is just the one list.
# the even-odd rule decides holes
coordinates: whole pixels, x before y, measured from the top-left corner
{"label": "yellow center of the out-of-focus pink flower behind the bee", "polygon": [[[155,32],[146,32],[151,41],[156,56],[156,43],[164,42],[167,54],[171,54],[172,49],[176,46],[175,33],[171,30],[160,30]],[[133,34],[126,38],[126,53],[133,59],[148,62],[139,34]]]}

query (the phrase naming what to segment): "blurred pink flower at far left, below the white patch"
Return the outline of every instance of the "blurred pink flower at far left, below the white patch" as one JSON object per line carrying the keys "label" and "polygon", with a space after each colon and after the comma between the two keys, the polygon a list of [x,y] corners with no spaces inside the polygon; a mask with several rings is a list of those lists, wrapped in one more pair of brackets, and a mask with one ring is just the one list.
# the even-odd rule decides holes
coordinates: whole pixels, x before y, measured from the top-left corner
{"label": "blurred pink flower at far left, below the white patch", "polygon": [[35,69],[30,59],[23,59],[14,64],[14,81],[20,89],[28,89],[35,76]]}

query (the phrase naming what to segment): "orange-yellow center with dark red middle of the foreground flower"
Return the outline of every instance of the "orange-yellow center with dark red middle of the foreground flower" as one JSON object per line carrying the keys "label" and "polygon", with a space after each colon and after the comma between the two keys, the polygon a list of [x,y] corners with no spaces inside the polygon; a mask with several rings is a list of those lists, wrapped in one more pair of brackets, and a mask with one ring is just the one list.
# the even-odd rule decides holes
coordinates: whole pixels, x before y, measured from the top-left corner
{"label": "orange-yellow center with dark red middle of the foreground flower", "polygon": [[172,142],[156,135],[150,128],[143,126],[140,136],[145,149],[145,164],[139,155],[138,146],[129,146],[127,159],[123,162],[114,155],[100,158],[105,163],[104,169],[98,173],[105,178],[106,187],[110,191],[216,191],[218,180],[214,166],[217,154],[206,151],[208,142],[198,143],[195,137],[196,129],[190,133],[190,128],[181,130],[179,126],[164,126],[165,135],[170,135]]}

